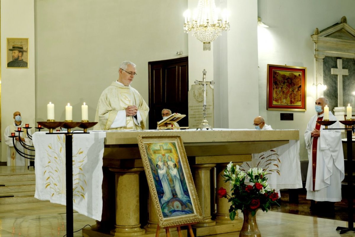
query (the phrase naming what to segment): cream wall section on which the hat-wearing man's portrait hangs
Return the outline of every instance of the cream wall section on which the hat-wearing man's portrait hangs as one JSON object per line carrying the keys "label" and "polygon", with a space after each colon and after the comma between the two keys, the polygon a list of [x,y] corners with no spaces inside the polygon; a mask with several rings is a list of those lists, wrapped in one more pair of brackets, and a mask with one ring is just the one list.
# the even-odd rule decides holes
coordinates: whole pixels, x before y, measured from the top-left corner
{"label": "cream wall section on which the hat-wearing man's portrait hangs", "polygon": [[[1,9],[1,128],[13,123],[13,113],[20,111],[22,121],[35,122],[35,47],[33,0],[7,0]],[[28,69],[6,68],[6,38],[29,38]],[[1,161],[6,162],[7,147],[1,142]]]}

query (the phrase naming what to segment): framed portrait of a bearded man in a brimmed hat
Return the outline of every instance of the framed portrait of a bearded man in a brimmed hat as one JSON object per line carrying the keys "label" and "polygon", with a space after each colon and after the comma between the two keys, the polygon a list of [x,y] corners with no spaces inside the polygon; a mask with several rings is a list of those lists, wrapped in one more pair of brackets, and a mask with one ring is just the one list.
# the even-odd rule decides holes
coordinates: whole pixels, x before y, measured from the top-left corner
{"label": "framed portrait of a bearded man in a brimmed hat", "polygon": [[6,38],[6,68],[28,68],[28,38]]}

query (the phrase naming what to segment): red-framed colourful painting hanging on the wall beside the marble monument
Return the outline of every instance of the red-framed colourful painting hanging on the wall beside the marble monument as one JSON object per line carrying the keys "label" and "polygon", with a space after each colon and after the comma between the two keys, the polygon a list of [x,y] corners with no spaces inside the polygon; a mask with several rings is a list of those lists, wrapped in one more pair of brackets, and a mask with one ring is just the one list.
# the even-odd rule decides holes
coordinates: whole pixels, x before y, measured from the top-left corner
{"label": "red-framed colourful painting hanging on the wall beside the marble monument", "polygon": [[306,110],[307,68],[267,65],[267,109]]}

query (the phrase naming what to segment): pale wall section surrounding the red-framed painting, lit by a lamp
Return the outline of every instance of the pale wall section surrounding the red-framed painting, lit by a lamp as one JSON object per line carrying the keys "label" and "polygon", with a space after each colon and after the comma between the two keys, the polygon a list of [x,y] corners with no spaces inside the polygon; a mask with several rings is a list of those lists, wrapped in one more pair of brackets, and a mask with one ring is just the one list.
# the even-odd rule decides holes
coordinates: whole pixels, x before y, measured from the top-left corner
{"label": "pale wall section surrounding the red-framed painting, lit by a lamp", "polygon": [[[300,130],[300,159],[308,160],[304,131],[315,114],[315,58],[311,39],[319,30],[340,22],[346,16],[355,27],[355,2],[352,0],[258,0],[258,16],[269,28],[258,29],[259,111],[274,129]],[[267,111],[267,64],[302,66],[307,68],[306,111]],[[280,121],[280,113],[293,113],[293,121]]]}

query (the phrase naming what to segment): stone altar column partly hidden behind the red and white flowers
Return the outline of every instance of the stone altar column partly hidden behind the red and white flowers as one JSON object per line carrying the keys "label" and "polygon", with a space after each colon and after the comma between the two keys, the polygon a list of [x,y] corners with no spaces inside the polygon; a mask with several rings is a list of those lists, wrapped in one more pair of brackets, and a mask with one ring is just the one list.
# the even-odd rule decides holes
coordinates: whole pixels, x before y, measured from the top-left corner
{"label": "stone altar column partly hidden behind the red and white flowers", "polygon": [[[241,165],[242,163],[233,163],[233,165]],[[222,174],[224,174],[224,169],[228,165],[228,163],[218,163],[217,164],[217,190],[222,187],[227,190],[228,194],[231,194],[231,186],[230,182],[224,182],[224,178],[222,177]],[[226,198],[219,198],[217,196],[216,198],[216,203],[217,203],[217,212],[216,212],[216,222],[217,223],[238,223],[242,222],[242,219],[239,218],[238,212],[236,212],[235,219],[232,221],[229,218],[229,208],[231,203],[228,202],[228,199]]]}

